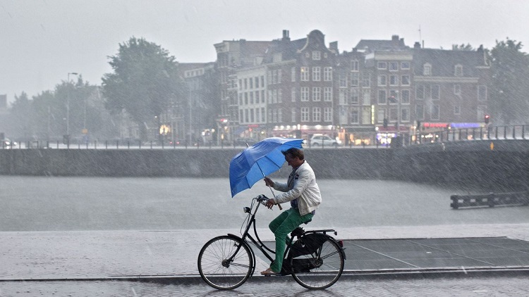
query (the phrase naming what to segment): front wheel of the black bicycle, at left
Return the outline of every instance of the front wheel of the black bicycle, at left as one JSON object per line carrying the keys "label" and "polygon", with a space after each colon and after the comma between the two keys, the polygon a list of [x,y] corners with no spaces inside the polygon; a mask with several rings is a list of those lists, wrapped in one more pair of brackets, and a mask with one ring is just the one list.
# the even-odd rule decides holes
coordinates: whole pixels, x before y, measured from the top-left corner
{"label": "front wheel of the black bicycle, at left", "polygon": [[241,286],[252,270],[250,248],[231,236],[218,236],[207,241],[198,254],[200,277],[215,289],[231,290]]}

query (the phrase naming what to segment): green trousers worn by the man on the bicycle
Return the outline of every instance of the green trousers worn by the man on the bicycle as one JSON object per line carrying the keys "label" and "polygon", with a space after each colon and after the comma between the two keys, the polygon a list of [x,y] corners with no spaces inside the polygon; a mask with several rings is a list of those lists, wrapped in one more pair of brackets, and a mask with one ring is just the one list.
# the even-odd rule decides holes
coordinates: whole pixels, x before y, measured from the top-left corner
{"label": "green trousers worn by the man on the bicycle", "polygon": [[286,241],[290,241],[288,234],[293,232],[299,225],[311,220],[313,216],[312,213],[302,216],[299,214],[299,210],[296,208],[290,208],[270,222],[268,227],[276,236],[276,259],[272,265],[270,265],[270,268],[272,268],[274,272],[281,272]]}

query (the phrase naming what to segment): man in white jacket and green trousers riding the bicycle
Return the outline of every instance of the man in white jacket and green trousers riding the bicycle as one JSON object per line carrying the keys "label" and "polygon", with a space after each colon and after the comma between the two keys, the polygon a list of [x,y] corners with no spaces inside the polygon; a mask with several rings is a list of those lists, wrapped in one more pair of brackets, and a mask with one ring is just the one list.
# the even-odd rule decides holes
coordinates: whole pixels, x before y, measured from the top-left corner
{"label": "man in white jacket and green trousers riding the bicycle", "polygon": [[268,187],[284,192],[269,199],[267,207],[272,208],[276,204],[290,201],[291,208],[285,210],[269,224],[276,239],[276,257],[270,267],[261,272],[263,275],[274,275],[281,272],[285,245],[289,241],[288,234],[302,223],[312,220],[315,210],[322,203],[314,171],[305,161],[303,151],[298,148],[288,148],[282,153],[288,165],[292,167],[292,172],[286,184],[273,182],[269,177],[265,177],[265,184]]}

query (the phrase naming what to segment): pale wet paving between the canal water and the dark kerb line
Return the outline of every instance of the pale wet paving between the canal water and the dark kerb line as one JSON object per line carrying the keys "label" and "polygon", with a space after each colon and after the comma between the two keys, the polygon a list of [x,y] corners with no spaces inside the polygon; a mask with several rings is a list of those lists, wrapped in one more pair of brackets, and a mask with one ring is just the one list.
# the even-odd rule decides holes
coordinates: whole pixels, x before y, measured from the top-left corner
{"label": "pale wet paving between the canal water and the dark kerb line", "polygon": [[[336,239],[506,236],[529,241],[529,224],[334,229]],[[263,241],[273,240],[269,230],[258,232]],[[227,233],[239,234],[239,230],[0,232],[0,281],[197,277],[200,248],[212,237]],[[391,246],[396,241],[386,242]],[[529,260],[529,249],[524,253]],[[257,257],[256,271],[268,265]],[[365,270],[376,272],[381,267]]]}

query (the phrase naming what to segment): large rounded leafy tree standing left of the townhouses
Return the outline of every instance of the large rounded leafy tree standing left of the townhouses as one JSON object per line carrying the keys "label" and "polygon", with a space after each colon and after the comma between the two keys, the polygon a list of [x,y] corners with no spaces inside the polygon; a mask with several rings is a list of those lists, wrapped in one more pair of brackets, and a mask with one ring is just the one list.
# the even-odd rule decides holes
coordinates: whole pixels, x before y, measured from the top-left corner
{"label": "large rounded leafy tree standing left of the townhouses", "polygon": [[147,139],[146,125],[159,127],[162,112],[182,98],[178,63],[162,47],[135,37],[119,44],[116,56],[109,58],[114,72],[102,78],[105,106],[113,113],[126,110]]}

